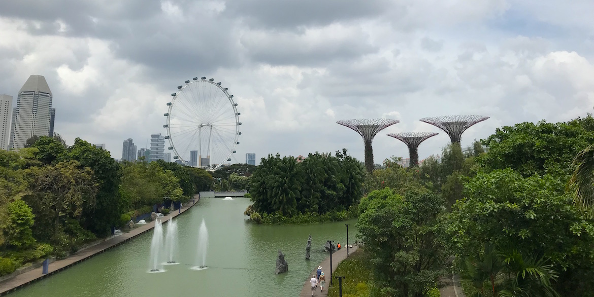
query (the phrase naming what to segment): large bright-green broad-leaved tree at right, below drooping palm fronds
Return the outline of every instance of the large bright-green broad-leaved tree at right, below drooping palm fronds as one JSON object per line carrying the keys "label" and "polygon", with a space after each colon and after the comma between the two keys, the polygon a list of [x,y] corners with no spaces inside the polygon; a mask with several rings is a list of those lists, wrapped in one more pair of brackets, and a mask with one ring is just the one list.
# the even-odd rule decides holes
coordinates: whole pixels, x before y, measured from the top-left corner
{"label": "large bright-green broad-leaved tree at right, below drooping palm fronds", "polygon": [[513,247],[549,258],[560,271],[554,289],[561,295],[587,292],[594,285],[583,278],[594,273],[594,225],[571,205],[564,185],[555,175],[524,178],[510,169],[470,179],[465,199],[447,216],[457,261],[478,258],[484,244]]}

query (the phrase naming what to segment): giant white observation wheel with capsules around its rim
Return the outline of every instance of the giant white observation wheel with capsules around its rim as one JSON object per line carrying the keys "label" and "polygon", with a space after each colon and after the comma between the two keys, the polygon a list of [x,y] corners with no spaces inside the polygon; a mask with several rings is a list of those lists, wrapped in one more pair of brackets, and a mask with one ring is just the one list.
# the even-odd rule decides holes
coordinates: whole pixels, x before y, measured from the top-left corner
{"label": "giant white observation wheel with capsules around its rim", "polygon": [[185,81],[169,106],[167,128],[173,159],[182,164],[217,169],[231,161],[239,144],[239,114],[233,95],[220,82],[203,77]]}

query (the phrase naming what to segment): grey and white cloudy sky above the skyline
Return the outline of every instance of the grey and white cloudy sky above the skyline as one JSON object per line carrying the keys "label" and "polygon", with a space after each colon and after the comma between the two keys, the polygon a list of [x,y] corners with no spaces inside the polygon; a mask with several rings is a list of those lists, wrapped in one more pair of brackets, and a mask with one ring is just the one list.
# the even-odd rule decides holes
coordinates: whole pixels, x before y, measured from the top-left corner
{"label": "grey and white cloudy sky above the skyline", "polygon": [[[233,162],[307,155],[361,138],[340,119],[401,122],[374,140],[375,162],[406,156],[387,133],[441,132],[421,117],[491,117],[496,127],[585,116],[594,106],[591,0],[8,0],[0,1],[0,94],[31,74],[53,92],[55,130],[68,144],[163,132],[176,86],[194,76],[235,96],[241,131]],[[438,154],[440,133],[419,148]]]}

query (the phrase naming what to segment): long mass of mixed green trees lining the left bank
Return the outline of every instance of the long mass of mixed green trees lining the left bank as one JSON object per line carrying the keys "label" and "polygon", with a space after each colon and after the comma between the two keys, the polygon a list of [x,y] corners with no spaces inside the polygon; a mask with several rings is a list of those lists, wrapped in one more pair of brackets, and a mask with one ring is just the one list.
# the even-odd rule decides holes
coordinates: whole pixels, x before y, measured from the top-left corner
{"label": "long mass of mixed green trees lining the left bank", "polygon": [[[211,189],[207,171],[166,162],[124,162],[59,135],[0,151],[0,275],[48,255],[65,256],[153,205]],[[166,212],[167,210],[163,210]]]}

